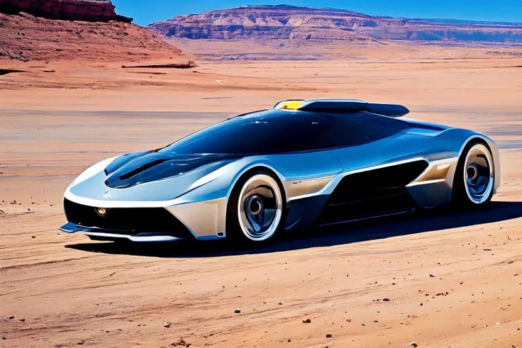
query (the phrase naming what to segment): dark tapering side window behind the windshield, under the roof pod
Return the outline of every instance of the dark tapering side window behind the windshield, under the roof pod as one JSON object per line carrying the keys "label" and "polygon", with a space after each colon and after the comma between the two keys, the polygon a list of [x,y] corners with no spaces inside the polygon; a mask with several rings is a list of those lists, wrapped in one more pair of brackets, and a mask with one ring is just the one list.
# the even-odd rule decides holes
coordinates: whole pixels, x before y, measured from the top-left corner
{"label": "dark tapering side window behind the windshield, under the roof pod", "polygon": [[362,145],[407,128],[400,120],[369,113],[338,115],[335,118],[331,129],[316,143],[316,148]]}

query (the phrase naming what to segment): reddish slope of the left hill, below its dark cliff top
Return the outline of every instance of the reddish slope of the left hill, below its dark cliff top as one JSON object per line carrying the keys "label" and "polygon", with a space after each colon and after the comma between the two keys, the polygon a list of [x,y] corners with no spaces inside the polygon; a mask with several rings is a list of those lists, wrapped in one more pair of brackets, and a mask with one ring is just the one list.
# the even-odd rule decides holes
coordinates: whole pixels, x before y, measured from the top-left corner
{"label": "reddish slope of the left hill, below its dark cliff top", "polygon": [[187,62],[181,51],[132,23],[60,21],[0,13],[0,61]]}

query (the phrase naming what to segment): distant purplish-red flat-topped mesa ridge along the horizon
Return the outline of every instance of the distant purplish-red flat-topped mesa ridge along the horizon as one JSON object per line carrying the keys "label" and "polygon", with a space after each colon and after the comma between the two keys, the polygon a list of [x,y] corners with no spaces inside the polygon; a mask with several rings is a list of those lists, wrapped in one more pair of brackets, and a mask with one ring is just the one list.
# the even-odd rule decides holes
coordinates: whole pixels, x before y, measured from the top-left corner
{"label": "distant purplish-red flat-topped mesa ridge along the horizon", "polygon": [[242,6],[179,16],[149,28],[174,38],[518,42],[522,23],[368,16],[337,9]]}

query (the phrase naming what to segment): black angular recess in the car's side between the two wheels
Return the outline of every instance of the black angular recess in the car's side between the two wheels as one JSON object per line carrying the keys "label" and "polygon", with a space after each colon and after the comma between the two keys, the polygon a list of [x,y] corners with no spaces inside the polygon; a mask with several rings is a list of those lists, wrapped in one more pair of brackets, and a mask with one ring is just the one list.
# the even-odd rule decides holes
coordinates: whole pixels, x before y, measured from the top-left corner
{"label": "black angular recess in the car's side between the two wheels", "polygon": [[424,160],[345,176],[331,193],[319,225],[413,211],[416,203],[406,185],[428,167]]}

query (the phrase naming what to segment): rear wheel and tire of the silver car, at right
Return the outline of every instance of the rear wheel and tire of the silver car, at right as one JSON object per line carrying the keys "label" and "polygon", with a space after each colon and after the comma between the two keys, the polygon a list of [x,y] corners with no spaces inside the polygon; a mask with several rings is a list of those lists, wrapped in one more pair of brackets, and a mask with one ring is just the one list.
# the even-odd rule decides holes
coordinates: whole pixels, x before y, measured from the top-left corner
{"label": "rear wheel and tire of the silver car, at right", "polygon": [[452,203],[478,208],[492,200],[495,169],[491,150],[482,141],[468,143],[460,155],[453,178]]}

